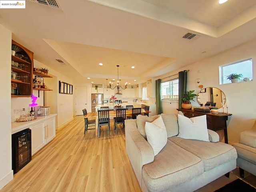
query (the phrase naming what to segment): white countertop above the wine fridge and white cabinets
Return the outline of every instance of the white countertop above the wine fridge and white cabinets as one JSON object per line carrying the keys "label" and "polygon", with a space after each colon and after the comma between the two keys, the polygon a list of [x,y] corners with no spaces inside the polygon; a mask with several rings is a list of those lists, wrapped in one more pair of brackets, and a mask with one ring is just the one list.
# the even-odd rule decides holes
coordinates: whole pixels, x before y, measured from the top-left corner
{"label": "white countertop above the wine fridge and white cabinets", "polygon": [[32,126],[34,124],[37,124],[41,121],[52,118],[56,115],[57,114],[50,114],[48,116],[40,116],[40,117],[37,117],[36,120],[32,120],[32,121],[12,122],[12,134],[17,133],[17,132],[19,132],[21,130],[24,130],[26,128],[29,128],[30,126]]}

